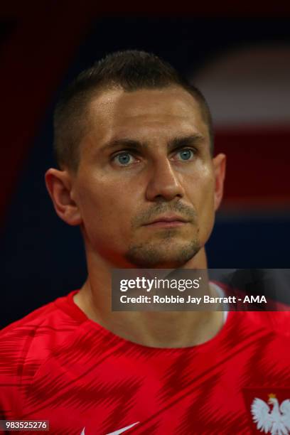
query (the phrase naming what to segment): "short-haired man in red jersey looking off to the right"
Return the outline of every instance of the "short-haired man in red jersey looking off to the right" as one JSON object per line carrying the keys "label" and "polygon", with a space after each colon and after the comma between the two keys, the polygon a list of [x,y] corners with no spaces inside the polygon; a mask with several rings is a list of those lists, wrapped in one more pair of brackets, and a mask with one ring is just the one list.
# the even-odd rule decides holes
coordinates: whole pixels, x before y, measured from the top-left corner
{"label": "short-haired man in red jersey looking off to the right", "polygon": [[284,314],[111,308],[112,269],[207,267],[225,155],[203,95],[154,55],[113,53],[63,95],[55,151],[46,186],[80,225],[87,281],[2,331],[1,419],[49,420],[53,434],[249,434],[262,417],[272,428],[282,396],[287,416]]}

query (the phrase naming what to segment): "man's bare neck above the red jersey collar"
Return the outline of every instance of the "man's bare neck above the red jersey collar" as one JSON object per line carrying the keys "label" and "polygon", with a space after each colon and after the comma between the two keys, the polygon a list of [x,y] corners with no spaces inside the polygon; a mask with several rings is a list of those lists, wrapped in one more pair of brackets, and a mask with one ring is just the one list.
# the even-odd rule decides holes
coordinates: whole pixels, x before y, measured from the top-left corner
{"label": "man's bare neck above the red jersey collar", "polygon": [[[156,348],[183,348],[205,343],[222,327],[220,311],[112,311],[111,269],[116,266],[87,252],[87,267],[87,281],[75,295],[75,304],[92,321],[126,340]],[[183,269],[206,267],[205,249],[200,249]]]}

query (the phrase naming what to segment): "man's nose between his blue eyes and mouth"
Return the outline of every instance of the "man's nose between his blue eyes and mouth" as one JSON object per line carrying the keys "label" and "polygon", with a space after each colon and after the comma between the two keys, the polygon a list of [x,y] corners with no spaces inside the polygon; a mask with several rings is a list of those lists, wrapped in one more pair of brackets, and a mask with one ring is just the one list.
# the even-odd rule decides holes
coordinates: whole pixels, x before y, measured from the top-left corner
{"label": "man's nose between his blue eyes and mouth", "polygon": [[183,198],[184,190],[176,172],[167,158],[153,163],[149,183],[146,189],[146,199],[149,201]]}

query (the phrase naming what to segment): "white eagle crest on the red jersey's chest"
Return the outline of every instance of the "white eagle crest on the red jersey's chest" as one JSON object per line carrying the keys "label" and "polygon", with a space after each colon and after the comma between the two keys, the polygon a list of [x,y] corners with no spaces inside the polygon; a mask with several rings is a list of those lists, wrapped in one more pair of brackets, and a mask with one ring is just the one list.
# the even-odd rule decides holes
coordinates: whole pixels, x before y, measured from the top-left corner
{"label": "white eagle crest on the red jersey's chest", "polygon": [[257,429],[265,434],[289,435],[290,434],[290,399],[284,400],[279,407],[275,394],[269,394],[268,403],[257,397],[251,405],[253,420]]}

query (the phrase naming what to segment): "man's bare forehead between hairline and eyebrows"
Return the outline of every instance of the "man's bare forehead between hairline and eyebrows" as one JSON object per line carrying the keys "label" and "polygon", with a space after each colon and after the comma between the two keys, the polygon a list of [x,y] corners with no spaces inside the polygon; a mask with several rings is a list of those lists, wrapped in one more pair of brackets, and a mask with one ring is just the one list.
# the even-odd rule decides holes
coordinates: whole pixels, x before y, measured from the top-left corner
{"label": "man's bare forehead between hairline and eyebrows", "polygon": [[176,134],[208,136],[198,102],[181,87],[161,90],[106,90],[90,102],[90,134],[98,141],[164,139]]}

